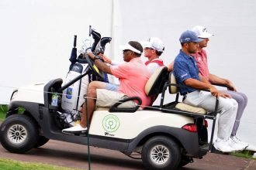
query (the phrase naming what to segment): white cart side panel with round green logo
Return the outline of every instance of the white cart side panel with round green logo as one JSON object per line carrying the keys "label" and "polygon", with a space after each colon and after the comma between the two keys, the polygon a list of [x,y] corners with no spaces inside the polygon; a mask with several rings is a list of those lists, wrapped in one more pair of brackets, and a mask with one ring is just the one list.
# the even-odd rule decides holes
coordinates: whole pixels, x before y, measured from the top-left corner
{"label": "white cart side panel with round green logo", "polygon": [[182,128],[194,123],[192,117],[181,114],[168,114],[157,110],[138,110],[135,113],[95,110],[89,133],[112,138],[133,139],[141,131],[155,126]]}

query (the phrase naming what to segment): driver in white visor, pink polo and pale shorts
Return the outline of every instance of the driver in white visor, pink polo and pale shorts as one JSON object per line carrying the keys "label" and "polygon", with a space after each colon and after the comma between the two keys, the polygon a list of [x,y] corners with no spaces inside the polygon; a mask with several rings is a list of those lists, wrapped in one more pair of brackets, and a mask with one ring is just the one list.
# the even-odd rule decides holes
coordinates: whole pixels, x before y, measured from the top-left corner
{"label": "driver in white visor, pink polo and pale shorts", "polygon": [[[149,106],[150,97],[147,97],[144,88],[147,80],[150,78],[150,72],[140,59],[143,47],[140,42],[130,41],[125,46],[120,46],[123,49],[123,60],[125,63],[118,66],[108,66],[99,59],[99,56],[95,56],[92,53],[88,53],[95,61],[95,65],[105,73],[112,74],[119,78],[119,88],[117,91],[107,90],[105,88],[93,88],[88,86],[88,120],[92,120],[92,114],[95,110],[95,106],[98,107],[111,107],[119,100],[126,97],[140,97],[142,100],[141,108]],[[130,100],[125,102],[122,107],[135,107],[136,102]],[[85,105],[84,105],[85,107]],[[74,127],[62,130],[67,133],[79,133],[87,131],[86,113],[85,109],[82,110],[81,122]]]}

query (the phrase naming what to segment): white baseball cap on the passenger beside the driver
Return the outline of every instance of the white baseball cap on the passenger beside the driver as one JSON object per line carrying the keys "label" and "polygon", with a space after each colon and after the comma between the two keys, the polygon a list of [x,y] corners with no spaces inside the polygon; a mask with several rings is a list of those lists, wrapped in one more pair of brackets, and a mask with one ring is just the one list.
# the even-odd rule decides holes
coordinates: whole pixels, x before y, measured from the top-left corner
{"label": "white baseball cap on the passenger beside the driver", "polygon": [[164,51],[164,42],[162,42],[161,39],[158,39],[157,37],[150,37],[148,41],[143,41],[141,44],[144,46],[144,48],[156,49],[159,52]]}

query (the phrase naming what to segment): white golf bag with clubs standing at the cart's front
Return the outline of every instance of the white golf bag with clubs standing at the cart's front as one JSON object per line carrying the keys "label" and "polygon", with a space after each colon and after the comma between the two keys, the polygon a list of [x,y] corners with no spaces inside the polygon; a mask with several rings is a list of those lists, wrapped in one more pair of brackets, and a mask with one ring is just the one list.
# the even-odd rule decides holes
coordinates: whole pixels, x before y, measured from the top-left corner
{"label": "white golf bag with clubs standing at the cart's front", "polygon": [[79,111],[81,110],[81,107],[85,102],[84,96],[85,94],[87,94],[88,84],[93,80],[104,81],[106,83],[109,82],[106,73],[104,74],[104,77],[100,77],[96,76],[92,72],[88,72],[90,68],[88,66],[88,61],[85,59],[85,53],[87,52],[87,50],[90,50],[92,53],[104,53],[106,43],[111,41],[111,37],[101,38],[99,32],[95,32],[95,30],[91,29],[90,26],[89,36],[91,35],[94,39],[92,47],[83,48],[85,50],[81,51],[81,54],[78,57],[76,49],[77,36],[74,36],[74,47],[72,49],[71,57],[69,59],[71,61],[71,66],[67,73],[64,84],[70,83],[78,76],[86,73],[87,74],[85,76],[82,76],[81,79],[76,80],[69,87],[65,87],[62,92],[61,107],[64,112],[62,114],[60,112],[59,117],[62,121],[64,121],[64,125],[67,127],[73,126],[74,121],[80,120],[79,115],[81,113],[79,113]]}

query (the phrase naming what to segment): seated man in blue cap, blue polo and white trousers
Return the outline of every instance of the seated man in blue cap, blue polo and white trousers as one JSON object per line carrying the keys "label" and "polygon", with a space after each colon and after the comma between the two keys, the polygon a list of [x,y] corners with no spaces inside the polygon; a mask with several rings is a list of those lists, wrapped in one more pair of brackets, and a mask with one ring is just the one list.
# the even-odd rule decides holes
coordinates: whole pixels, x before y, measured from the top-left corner
{"label": "seated man in blue cap, blue polo and white trousers", "polygon": [[192,54],[199,49],[199,39],[195,32],[185,31],[179,41],[182,44],[180,53],[175,58],[173,73],[178,84],[194,87],[198,89],[208,89],[209,92],[180,87],[180,93],[185,96],[183,101],[195,107],[202,107],[209,111],[215,110],[216,97],[219,97],[218,112],[220,119],[218,122],[217,140],[214,147],[223,152],[236,151],[230,146],[230,134],[237,114],[237,101],[230,98],[230,95],[223,93],[213,87],[201,74],[196,66],[196,61]]}

